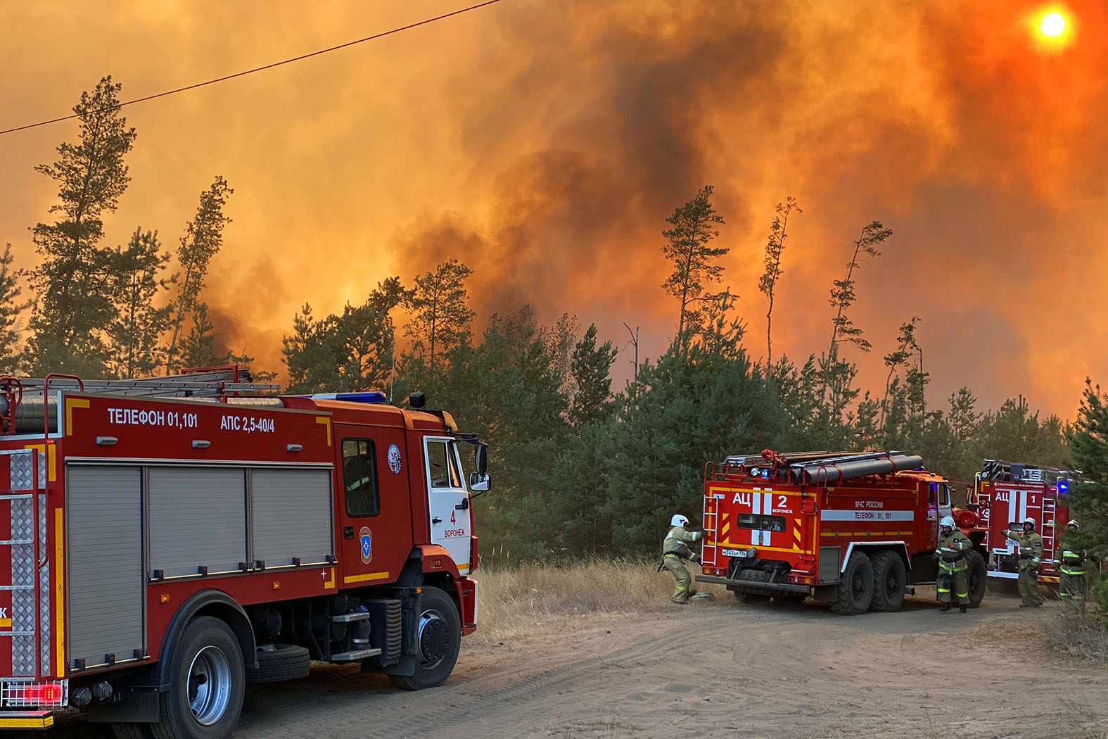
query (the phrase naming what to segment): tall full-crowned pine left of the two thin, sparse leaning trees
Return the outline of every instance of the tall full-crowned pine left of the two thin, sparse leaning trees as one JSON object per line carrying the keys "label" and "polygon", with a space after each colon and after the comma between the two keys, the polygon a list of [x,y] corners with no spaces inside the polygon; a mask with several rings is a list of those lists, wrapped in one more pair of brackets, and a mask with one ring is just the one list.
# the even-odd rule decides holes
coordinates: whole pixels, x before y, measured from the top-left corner
{"label": "tall full-crowned pine left of the two thin, sparse leaning trees", "polygon": [[696,327],[700,312],[694,308],[705,296],[706,283],[719,283],[724,271],[722,265],[714,259],[726,255],[730,249],[711,247],[708,244],[719,237],[716,226],[724,223],[711,205],[711,185],[705,185],[696,196],[675,209],[666,218],[673,228],[661,232],[666,244],[661,253],[673,264],[674,271],[661,284],[666,292],[677,298],[680,311],[677,319],[677,338],[683,353],[687,350],[690,327]]}

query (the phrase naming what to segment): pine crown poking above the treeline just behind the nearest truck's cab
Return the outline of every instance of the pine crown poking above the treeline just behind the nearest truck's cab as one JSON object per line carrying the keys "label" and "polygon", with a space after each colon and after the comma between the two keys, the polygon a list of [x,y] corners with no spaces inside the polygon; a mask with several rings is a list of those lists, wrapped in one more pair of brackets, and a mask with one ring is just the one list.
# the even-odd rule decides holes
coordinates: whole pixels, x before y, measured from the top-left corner
{"label": "pine crown poking above the treeline just behind the nearest truck's cab", "polygon": [[441,370],[437,362],[458,346],[475,315],[466,305],[465,278],[471,274],[458,259],[450,259],[417,277],[408,297],[412,315],[404,332],[412,339],[412,351],[425,359],[431,378]]}

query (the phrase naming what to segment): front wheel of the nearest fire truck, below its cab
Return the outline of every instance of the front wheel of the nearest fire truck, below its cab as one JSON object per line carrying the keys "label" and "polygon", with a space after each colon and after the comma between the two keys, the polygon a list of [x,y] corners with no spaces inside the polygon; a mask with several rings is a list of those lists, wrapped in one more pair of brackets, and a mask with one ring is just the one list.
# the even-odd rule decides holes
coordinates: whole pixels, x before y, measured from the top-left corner
{"label": "front wheel of the nearest fire truck, below its cab", "polygon": [[438,587],[423,587],[417,625],[419,655],[412,675],[390,675],[404,690],[437,688],[447,681],[458,663],[462,646],[462,619],[454,601]]}

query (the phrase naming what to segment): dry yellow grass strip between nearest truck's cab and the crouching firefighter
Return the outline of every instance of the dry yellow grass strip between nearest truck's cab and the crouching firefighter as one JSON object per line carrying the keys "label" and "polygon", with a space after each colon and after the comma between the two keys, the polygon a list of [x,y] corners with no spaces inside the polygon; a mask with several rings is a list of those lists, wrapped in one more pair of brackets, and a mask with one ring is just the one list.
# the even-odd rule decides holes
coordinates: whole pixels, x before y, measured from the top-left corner
{"label": "dry yellow grass strip between nearest truck's cab and the crouching firefighter", "polygon": [[[521,564],[476,573],[479,627],[476,640],[500,640],[547,630],[573,618],[678,608],[669,602],[674,578],[656,572],[657,562],[624,557],[586,557],[563,564]],[[699,573],[689,565],[689,574]],[[715,601],[690,607],[731,605],[735,598],[718,585],[694,583]]]}

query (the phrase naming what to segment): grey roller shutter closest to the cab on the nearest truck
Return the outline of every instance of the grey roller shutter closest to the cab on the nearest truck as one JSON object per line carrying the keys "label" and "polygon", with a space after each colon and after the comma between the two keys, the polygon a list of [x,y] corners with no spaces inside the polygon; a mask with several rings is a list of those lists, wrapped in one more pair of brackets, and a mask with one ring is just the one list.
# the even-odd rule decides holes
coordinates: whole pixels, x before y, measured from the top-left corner
{"label": "grey roller shutter closest to the cab on the nearest truck", "polygon": [[252,470],[250,525],[255,561],[304,566],[335,554],[330,470]]}

